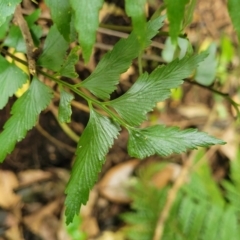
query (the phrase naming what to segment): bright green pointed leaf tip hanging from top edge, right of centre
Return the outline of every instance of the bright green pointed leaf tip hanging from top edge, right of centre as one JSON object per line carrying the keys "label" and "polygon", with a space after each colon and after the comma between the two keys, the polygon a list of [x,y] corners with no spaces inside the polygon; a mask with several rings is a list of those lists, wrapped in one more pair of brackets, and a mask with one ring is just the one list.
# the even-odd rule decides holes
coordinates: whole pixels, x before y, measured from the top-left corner
{"label": "bright green pointed leaf tip hanging from top edge, right of centre", "polygon": [[176,42],[181,31],[181,24],[184,17],[184,10],[189,0],[165,0],[167,16],[170,24],[169,33],[173,42]]}

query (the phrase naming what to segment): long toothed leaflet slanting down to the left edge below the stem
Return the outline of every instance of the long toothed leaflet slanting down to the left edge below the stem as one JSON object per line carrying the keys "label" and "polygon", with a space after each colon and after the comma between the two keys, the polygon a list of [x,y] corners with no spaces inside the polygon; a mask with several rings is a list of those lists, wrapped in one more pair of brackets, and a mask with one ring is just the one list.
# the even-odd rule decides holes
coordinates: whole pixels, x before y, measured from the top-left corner
{"label": "long toothed leaflet slanting down to the left edge below the stem", "polygon": [[16,142],[22,140],[27,131],[36,124],[38,115],[47,107],[51,98],[52,90],[34,78],[28,91],[14,103],[12,116],[0,134],[0,162],[13,150]]}

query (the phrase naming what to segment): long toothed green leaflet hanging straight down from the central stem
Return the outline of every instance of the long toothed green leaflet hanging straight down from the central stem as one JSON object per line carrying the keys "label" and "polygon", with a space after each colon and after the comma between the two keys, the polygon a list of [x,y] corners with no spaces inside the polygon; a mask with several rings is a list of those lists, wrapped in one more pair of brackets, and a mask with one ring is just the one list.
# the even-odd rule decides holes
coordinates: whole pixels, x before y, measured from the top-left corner
{"label": "long toothed green leaflet hanging straight down from the central stem", "polygon": [[119,130],[116,123],[91,110],[90,120],[77,146],[76,160],[66,188],[67,223],[73,220],[75,214],[79,214],[81,204],[86,204],[105,155]]}

